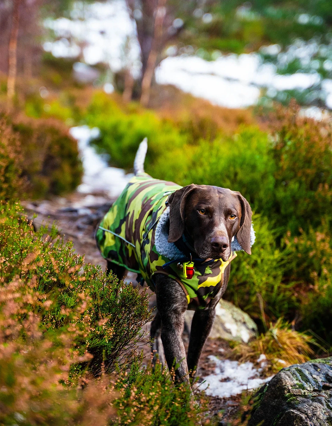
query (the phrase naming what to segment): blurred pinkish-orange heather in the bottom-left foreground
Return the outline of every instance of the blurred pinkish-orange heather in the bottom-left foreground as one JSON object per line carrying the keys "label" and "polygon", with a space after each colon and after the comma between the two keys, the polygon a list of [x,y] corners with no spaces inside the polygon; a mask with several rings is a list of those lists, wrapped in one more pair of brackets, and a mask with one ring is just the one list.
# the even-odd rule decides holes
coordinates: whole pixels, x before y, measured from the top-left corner
{"label": "blurred pinkish-orange heather in the bottom-left foreground", "polygon": [[1,424],[106,424],[115,411],[110,405],[114,394],[105,395],[99,382],[84,390],[65,386],[71,366],[91,356],[75,350],[74,327],[46,333],[42,315],[27,309],[27,300],[36,310],[53,303],[40,299],[35,284],[16,278],[0,287]]}

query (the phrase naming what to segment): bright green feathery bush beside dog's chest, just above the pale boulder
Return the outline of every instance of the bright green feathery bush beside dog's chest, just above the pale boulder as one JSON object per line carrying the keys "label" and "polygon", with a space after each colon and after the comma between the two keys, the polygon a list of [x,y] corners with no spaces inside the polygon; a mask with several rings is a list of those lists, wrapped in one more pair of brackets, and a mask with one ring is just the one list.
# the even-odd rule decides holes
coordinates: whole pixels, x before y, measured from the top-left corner
{"label": "bright green feathery bush beside dog's chest, just above the pale boulder", "polygon": [[238,253],[232,262],[231,276],[225,298],[235,302],[255,320],[262,320],[260,303],[266,315],[279,318],[292,317],[298,300],[293,291],[294,282],[284,282],[288,250],[282,250],[276,243],[276,231],[272,231],[264,216],[253,215],[256,241],[252,254]]}

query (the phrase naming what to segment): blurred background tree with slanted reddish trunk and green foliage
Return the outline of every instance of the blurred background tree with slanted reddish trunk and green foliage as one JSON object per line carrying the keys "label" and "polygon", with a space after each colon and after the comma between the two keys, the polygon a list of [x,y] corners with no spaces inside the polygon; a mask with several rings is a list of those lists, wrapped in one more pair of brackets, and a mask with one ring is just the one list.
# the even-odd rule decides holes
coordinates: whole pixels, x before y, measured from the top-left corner
{"label": "blurred background tree with slanted reddish trunk and green foliage", "polygon": [[323,0],[126,1],[141,49],[138,83],[143,105],[149,100],[154,70],[171,44],[173,54],[197,52],[211,60],[221,52],[252,52],[266,44],[278,44],[283,50],[298,38],[330,42],[332,2]]}

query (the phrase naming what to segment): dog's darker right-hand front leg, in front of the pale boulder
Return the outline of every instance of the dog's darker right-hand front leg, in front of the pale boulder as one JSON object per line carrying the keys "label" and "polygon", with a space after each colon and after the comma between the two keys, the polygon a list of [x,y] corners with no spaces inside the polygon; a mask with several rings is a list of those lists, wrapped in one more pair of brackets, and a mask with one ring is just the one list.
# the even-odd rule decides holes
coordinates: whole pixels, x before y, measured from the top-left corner
{"label": "dog's darker right-hand front leg, in front of the pale boulder", "polygon": [[198,366],[204,343],[210,334],[214,320],[214,307],[197,310],[192,318],[187,357],[189,373],[192,377],[195,375],[195,370]]}

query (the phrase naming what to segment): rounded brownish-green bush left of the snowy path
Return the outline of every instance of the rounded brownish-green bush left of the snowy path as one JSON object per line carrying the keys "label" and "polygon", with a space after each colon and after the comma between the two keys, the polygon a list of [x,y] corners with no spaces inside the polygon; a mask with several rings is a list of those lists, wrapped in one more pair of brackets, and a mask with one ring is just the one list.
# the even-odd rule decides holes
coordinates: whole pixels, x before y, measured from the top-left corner
{"label": "rounded brownish-green bush left of the snowy path", "polygon": [[20,159],[15,159],[16,167],[22,170],[29,196],[60,195],[77,187],[82,177],[82,164],[77,141],[66,127],[53,119],[24,116],[4,116],[2,126],[1,138],[6,138],[4,131],[8,127],[8,132],[14,133],[18,140],[21,155]]}

